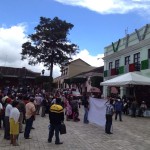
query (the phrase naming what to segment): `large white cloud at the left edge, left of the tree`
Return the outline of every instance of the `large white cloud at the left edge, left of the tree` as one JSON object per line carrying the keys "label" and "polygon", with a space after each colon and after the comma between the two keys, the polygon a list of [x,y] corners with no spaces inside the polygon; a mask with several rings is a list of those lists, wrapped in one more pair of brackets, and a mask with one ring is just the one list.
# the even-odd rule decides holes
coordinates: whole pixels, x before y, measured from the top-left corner
{"label": "large white cloud at the left edge, left of the tree", "polygon": [[21,59],[21,44],[27,40],[24,30],[23,25],[0,28],[1,65],[13,65]]}

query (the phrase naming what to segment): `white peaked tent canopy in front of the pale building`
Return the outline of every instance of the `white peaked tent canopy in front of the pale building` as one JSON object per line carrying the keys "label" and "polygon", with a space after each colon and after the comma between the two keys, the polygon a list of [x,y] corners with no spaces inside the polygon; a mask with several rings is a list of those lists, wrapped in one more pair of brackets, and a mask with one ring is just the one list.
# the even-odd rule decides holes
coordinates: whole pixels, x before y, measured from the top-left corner
{"label": "white peaked tent canopy in front of the pale building", "polygon": [[150,78],[136,72],[128,72],[113,79],[101,82],[104,86],[150,85]]}

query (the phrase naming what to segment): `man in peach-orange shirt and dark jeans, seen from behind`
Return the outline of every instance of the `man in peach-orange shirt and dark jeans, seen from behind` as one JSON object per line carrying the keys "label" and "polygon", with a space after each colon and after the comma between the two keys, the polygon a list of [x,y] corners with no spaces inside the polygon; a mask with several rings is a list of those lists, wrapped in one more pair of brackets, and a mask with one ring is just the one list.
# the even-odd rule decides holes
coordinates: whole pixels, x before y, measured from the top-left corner
{"label": "man in peach-orange shirt and dark jeans, seen from behind", "polygon": [[35,120],[35,114],[36,114],[36,109],[34,105],[34,97],[30,97],[30,102],[26,104],[26,126],[25,126],[25,131],[24,131],[24,138],[25,139],[31,139],[30,138],[30,131],[32,129],[32,124],[33,121]]}

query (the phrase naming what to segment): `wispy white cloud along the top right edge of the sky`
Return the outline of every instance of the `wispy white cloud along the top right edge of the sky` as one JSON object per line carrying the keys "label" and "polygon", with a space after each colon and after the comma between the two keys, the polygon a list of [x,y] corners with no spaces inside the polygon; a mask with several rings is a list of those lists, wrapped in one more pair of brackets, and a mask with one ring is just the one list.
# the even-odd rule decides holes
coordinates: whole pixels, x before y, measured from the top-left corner
{"label": "wispy white cloud along the top right edge of the sky", "polygon": [[55,0],[57,2],[81,6],[100,14],[124,14],[143,10],[150,13],[150,0]]}

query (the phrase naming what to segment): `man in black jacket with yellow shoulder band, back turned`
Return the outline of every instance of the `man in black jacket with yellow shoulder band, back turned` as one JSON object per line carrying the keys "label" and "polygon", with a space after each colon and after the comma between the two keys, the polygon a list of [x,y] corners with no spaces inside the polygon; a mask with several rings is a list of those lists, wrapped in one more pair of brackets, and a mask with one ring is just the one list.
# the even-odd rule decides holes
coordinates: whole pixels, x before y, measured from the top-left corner
{"label": "man in black jacket with yellow shoulder band, back turned", "polygon": [[64,122],[64,110],[61,106],[61,99],[56,98],[56,104],[51,105],[49,111],[49,120],[50,120],[50,130],[48,142],[52,142],[52,138],[55,131],[55,144],[63,144],[59,139],[59,131],[61,123]]}

